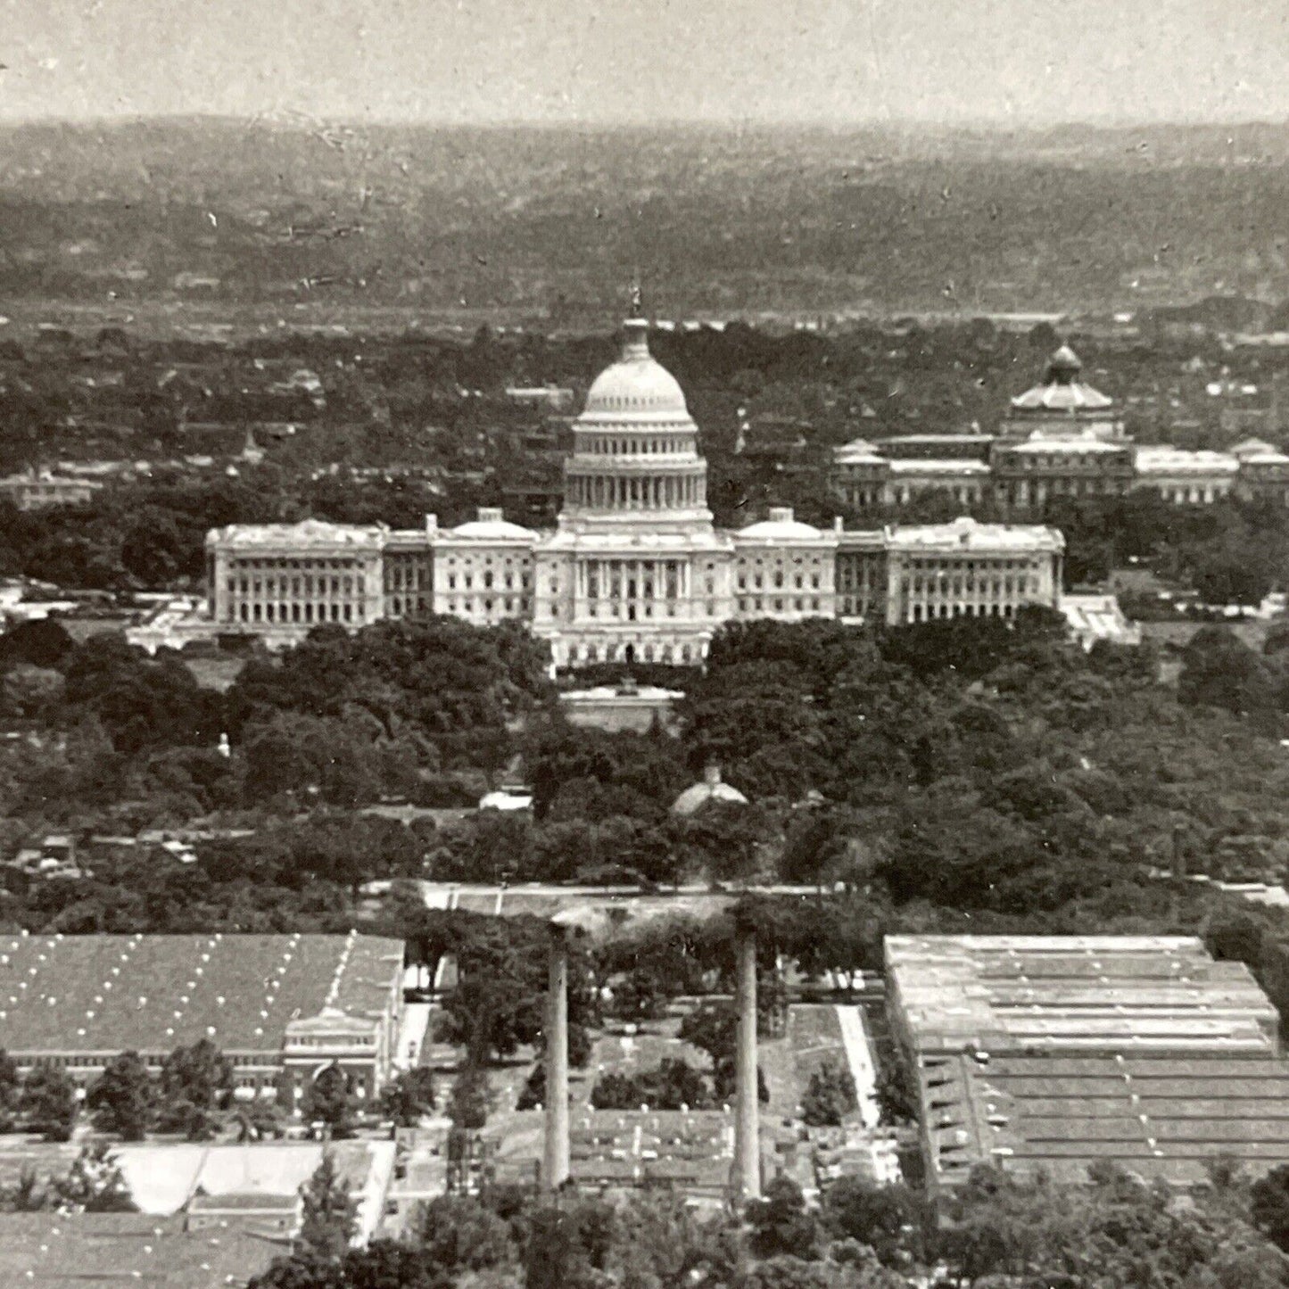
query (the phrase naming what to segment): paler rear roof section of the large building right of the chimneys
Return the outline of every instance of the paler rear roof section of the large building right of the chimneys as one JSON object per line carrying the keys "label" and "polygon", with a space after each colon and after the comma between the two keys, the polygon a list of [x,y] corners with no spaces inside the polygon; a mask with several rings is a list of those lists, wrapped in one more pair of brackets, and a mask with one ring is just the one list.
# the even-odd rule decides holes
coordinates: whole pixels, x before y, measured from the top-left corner
{"label": "paler rear roof section of the large building right of the chimneys", "polygon": [[1280,1017],[1243,963],[1179,936],[888,936],[916,1053],[1275,1056]]}

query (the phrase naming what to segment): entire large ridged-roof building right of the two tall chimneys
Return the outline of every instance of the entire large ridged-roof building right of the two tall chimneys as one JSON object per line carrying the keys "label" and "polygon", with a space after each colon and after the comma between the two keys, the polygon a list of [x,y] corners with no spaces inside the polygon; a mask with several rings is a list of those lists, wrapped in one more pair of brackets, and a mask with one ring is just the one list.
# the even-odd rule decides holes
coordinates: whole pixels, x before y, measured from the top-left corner
{"label": "entire large ridged-roof building right of the two tall chimneys", "polygon": [[976,1164],[1179,1185],[1289,1163],[1279,1014],[1241,963],[1170,936],[891,936],[891,1023],[928,1185]]}

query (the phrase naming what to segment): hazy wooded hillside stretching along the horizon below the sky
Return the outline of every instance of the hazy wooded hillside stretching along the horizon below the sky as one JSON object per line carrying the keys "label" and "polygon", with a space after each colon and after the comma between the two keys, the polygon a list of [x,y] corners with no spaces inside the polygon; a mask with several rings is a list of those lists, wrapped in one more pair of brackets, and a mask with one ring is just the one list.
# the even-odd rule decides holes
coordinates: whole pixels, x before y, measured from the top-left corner
{"label": "hazy wooded hillside stretching along the horizon below the sky", "polygon": [[0,293],[558,317],[1289,296],[1289,126],[0,129]]}

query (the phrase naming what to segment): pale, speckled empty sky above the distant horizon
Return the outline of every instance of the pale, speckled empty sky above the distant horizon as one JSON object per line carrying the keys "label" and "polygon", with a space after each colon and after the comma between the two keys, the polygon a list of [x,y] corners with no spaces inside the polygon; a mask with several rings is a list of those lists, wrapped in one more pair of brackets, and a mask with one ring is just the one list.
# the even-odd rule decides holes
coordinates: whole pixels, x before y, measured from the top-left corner
{"label": "pale, speckled empty sky above the distant horizon", "polygon": [[1289,0],[0,0],[0,119],[1289,117]]}

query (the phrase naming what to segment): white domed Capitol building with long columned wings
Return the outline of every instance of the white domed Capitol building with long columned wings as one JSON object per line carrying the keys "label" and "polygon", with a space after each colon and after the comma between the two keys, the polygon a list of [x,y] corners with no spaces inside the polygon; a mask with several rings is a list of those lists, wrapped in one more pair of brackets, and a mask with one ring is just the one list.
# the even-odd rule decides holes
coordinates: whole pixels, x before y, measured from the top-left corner
{"label": "white domed Capitol building with long columned wings", "polygon": [[536,531],[500,510],[440,528],[232,525],[206,539],[208,599],[187,617],[138,628],[147,647],[214,635],[272,646],[321,623],[385,617],[516,620],[548,641],[553,665],[696,664],[727,621],[913,623],[1012,616],[1057,606],[1061,534],[1026,525],[816,528],[786,508],[717,528],[708,467],[675,378],[624,325],[620,358],[574,420],[558,526]]}

